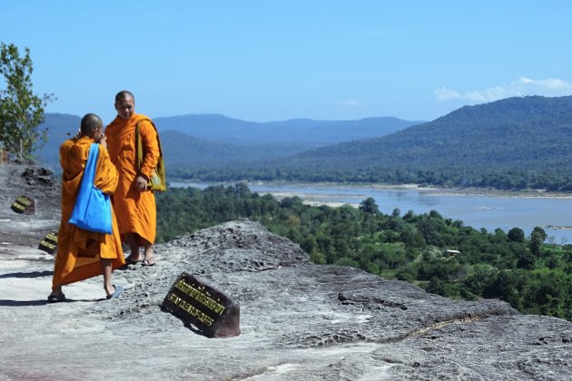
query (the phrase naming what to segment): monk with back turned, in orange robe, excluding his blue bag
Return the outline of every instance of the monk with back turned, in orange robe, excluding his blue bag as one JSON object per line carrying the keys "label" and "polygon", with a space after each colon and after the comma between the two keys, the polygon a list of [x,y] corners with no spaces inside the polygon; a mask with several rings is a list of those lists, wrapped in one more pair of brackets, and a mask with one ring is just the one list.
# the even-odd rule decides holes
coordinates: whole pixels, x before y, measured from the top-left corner
{"label": "monk with back turned, in orange robe, excluding his blue bag", "polygon": [[112,270],[125,264],[113,210],[113,234],[82,230],[68,223],[74,210],[90,147],[94,142],[99,142],[94,186],[107,194],[113,194],[117,187],[119,175],[109,159],[106,139],[102,134],[103,127],[99,116],[88,113],[82,119],[79,137],[65,141],[60,147],[60,164],[64,172],[62,220],[57,235],[52,293],[48,297],[50,303],[65,300],[63,285],[99,275],[104,276],[104,291],[108,299],[118,297],[123,291],[122,287],[112,284]]}

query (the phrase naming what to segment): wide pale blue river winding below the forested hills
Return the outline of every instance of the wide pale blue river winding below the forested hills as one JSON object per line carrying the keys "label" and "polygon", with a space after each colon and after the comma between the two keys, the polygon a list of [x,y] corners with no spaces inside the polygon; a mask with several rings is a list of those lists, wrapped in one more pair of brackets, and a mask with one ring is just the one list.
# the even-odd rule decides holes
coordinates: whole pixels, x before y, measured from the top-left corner
{"label": "wide pale blue river winding below the forested hills", "polygon": [[[211,184],[173,182],[171,186],[192,186],[204,189]],[[226,184],[232,185],[232,184]],[[390,214],[399,209],[416,214],[437,210],[444,218],[462,220],[466,226],[486,229],[500,228],[505,232],[518,227],[528,236],[536,227],[546,232],[548,242],[572,243],[572,197],[529,197],[510,194],[475,194],[459,190],[420,188],[385,188],[376,186],[249,183],[251,191],[271,193],[278,199],[298,196],[311,203],[358,205],[373,198],[380,211]],[[566,228],[567,229],[562,229]]]}

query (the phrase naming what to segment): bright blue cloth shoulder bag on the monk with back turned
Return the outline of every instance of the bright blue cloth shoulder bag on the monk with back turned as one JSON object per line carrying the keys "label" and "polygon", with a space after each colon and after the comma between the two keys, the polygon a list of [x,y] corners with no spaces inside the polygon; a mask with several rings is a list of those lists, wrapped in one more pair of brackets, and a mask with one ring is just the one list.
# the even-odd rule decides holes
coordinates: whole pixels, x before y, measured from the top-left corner
{"label": "bright blue cloth shoulder bag on the monk with back turned", "polygon": [[111,200],[109,195],[94,186],[99,144],[92,144],[85,163],[84,177],[75,200],[72,217],[68,221],[83,230],[112,234]]}

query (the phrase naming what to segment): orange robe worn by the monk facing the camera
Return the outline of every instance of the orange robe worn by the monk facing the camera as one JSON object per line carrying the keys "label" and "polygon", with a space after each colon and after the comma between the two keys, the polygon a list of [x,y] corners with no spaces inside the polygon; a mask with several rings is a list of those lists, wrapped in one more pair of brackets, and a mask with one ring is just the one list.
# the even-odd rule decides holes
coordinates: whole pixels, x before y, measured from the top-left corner
{"label": "orange robe worn by the monk facing the camera", "polygon": [[[140,134],[145,155],[141,170],[135,168],[135,125],[147,119],[143,114],[133,114],[125,121],[116,117],[105,129],[109,155],[117,171],[119,184],[113,193],[113,210],[117,217],[119,232],[137,233],[151,244],[155,241],[157,228],[157,210],[153,190],[139,191],[133,187],[137,175],[149,179],[157,161],[159,161],[159,143],[153,124],[141,122]],[[143,246],[143,242],[139,242]]]}

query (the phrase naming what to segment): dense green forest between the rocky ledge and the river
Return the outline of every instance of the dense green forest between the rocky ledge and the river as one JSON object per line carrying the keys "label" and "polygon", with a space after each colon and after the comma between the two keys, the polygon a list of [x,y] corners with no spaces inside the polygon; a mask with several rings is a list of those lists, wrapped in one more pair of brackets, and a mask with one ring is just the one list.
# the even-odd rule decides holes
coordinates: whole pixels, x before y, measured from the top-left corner
{"label": "dense green forest between the rocky ledge and the river", "polygon": [[363,269],[453,299],[499,298],[526,314],[572,320],[572,245],[525,232],[475,230],[431,210],[310,206],[234,186],[171,188],[157,195],[159,242],[247,218],[300,244],[313,263]]}

